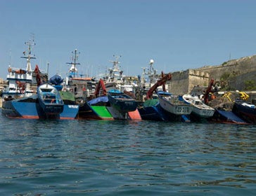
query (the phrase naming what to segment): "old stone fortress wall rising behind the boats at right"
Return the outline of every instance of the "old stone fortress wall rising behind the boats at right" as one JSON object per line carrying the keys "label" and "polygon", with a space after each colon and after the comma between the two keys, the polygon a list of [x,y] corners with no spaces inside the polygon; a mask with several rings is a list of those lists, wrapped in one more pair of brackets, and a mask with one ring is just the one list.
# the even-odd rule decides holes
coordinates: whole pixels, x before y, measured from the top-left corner
{"label": "old stone fortress wall rising behind the boats at right", "polygon": [[243,90],[246,80],[254,80],[256,83],[256,55],[232,59],[217,66],[173,72],[172,80],[168,82],[168,90],[173,94],[186,94],[194,86],[208,86],[212,78],[216,82],[227,80],[232,89]]}

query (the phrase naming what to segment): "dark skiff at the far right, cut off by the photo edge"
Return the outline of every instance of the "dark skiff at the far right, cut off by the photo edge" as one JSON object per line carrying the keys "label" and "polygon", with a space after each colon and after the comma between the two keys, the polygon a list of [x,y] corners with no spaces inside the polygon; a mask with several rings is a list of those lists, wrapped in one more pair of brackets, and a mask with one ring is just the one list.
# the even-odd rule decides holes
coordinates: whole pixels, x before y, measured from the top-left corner
{"label": "dark skiff at the far right, cut off by the photo edge", "polygon": [[233,104],[233,113],[248,123],[256,123],[256,106],[243,99],[236,99]]}

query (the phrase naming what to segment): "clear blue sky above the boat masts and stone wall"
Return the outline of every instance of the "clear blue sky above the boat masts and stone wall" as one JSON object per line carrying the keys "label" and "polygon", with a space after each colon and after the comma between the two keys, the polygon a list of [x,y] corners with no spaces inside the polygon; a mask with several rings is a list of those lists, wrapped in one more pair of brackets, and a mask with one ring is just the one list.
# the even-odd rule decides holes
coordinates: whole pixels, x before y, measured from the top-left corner
{"label": "clear blue sky above the boat masts and stone wall", "polygon": [[0,78],[34,36],[35,64],[67,75],[77,49],[79,74],[96,76],[120,55],[126,76],[151,59],[158,73],[219,65],[256,54],[254,0],[0,0]]}

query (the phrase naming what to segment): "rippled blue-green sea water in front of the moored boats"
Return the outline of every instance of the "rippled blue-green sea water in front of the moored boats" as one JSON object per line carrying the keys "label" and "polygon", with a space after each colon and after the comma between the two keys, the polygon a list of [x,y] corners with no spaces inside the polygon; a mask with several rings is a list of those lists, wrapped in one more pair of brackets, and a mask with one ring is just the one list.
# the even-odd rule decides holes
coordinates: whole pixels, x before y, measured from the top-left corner
{"label": "rippled blue-green sea water in front of the moored boats", "polygon": [[256,125],[0,114],[0,195],[256,195]]}

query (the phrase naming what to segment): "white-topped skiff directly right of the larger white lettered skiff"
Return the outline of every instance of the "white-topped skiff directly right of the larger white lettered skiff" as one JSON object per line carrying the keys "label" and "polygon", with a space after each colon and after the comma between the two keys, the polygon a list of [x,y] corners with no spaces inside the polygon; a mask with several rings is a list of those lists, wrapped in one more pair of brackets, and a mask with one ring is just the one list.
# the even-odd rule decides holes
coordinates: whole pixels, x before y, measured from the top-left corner
{"label": "white-topped skiff directly right of the larger white lettered skiff", "polygon": [[192,96],[191,94],[184,94],[182,98],[186,103],[193,106],[191,118],[194,118],[194,120],[210,118],[215,113],[215,109],[204,104],[197,96]]}

